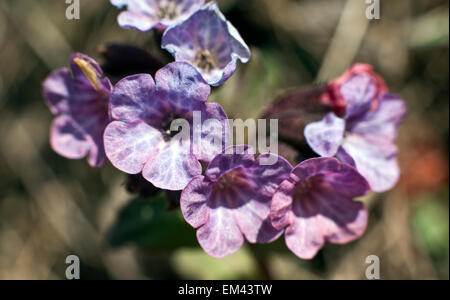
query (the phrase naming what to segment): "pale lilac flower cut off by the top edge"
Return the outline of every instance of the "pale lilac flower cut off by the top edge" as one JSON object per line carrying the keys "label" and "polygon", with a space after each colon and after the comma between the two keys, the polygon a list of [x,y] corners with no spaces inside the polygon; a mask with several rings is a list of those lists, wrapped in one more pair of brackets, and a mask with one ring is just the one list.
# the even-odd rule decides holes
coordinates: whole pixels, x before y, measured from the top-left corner
{"label": "pale lilac flower cut off by the top edge", "polygon": [[205,0],[111,0],[111,4],[127,7],[118,17],[123,28],[150,31],[167,27],[189,17]]}

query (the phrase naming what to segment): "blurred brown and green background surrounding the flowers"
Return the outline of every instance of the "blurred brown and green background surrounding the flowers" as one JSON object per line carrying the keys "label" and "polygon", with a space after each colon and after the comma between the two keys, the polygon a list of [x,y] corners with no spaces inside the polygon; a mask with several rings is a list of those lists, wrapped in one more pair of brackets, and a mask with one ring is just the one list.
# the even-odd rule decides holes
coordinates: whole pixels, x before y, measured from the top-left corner
{"label": "blurred brown and green background surrounding the flowers", "polygon": [[365,279],[377,255],[382,279],[449,278],[449,2],[381,0],[369,21],[362,0],[224,0],[219,5],[252,48],[252,60],[211,101],[232,117],[259,116],[290,88],[326,82],[355,62],[372,64],[408,104],[399,135],[402,179],[363,199],[366,234],[327,244],[312,261],[283,239],[208,257],[164,195],[137,199],[110,164],[59,157],[49,146],[41,85],[80,51],[102,62],[110,42],[167,59],[153,33],[120,29],[107,0],[0,1],[0,279],[65,279],[77,255],[82,279]]}

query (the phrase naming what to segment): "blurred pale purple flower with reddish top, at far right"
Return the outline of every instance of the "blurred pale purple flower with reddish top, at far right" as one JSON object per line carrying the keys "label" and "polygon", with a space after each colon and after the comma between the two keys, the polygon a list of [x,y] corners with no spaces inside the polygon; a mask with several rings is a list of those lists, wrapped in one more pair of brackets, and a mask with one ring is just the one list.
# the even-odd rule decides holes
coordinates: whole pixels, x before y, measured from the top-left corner
{"label": "blurred pale purple flower with reddish top, at far right", "polygon": [[398,96],[387,93],[382,80],[367,70],[371,69],[357,65],[344,75],[344,82],[338,79],[332,83],[339,87],[333,94],[345,101],[344,117],[330,113],[322,121],[309,124],[305,137],[316,153],[337,156],[355,166],[372,190],[384,192],[400,177],[395,141],[406,105]]}

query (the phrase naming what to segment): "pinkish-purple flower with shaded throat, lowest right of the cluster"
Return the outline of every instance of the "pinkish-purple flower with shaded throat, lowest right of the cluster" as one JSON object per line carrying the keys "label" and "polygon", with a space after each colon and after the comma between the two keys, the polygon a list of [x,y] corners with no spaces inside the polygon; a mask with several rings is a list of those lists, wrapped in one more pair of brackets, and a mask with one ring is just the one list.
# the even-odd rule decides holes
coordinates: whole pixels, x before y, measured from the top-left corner
{"label": "pinkish-purple flower with shaded throat, lowest right of the cluster", "polygon": [[367,211],[355,197],[370,191],[358,171],[334,158],[314,158],[293,169],[273,196],[272,225],[282,230],[288,248],[311,259],[325,241],[349,243],[367,225]]}

